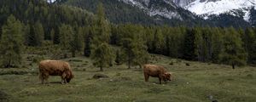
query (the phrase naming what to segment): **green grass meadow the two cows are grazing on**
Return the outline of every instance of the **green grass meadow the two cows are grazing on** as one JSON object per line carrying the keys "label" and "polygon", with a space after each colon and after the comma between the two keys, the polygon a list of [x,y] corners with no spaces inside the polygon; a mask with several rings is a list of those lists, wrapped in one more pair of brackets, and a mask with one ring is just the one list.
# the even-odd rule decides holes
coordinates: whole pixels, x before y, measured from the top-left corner
{"label": "green grass meadow the two cows are grazing on", "polygon": [[[73,67],[74,79],[67,85],[60,77],[49,77],[49,84],[38,79],[38,65],[26,61],[21,69],[0,69],[0,101],[10,102],[256,102],[256,68],[214,65],[169,59],[156,55],[153,64],[164,65],[174,81],[158,84],[158,78],[144,82],[138,67],[113,65],[103,72],[90,59],[64,59]],[[173,65],[170,63],[173,62]],[[189,63],[189,65],[186,65]],[[93,79],[102,73],[108,78]]]}

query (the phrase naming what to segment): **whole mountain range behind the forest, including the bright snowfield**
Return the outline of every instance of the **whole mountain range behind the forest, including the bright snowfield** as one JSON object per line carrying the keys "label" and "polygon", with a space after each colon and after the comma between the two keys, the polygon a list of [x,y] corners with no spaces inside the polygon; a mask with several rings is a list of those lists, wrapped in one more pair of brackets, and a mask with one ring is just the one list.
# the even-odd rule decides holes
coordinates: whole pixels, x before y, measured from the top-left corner
{"label": "whole mountain range behind the forest, including the bright snowfield", "polygon": [[[96,13],[97,4],[102,2],[108,20],[114,24],[222,27],[253,24],[249,22],[253,2],[234,0],[238,2],[231,4],[227,1],[230,0],[56,0],[55,3]],[[226,5],[233,6],[221,9]]]}

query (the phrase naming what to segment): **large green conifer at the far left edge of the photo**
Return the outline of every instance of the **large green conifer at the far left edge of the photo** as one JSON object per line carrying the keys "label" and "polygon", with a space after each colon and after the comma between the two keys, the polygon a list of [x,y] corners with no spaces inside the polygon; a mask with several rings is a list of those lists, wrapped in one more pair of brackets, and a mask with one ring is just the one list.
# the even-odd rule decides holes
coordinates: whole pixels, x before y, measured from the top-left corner
{"label": "large green conifer at the far left edge of the photo", "polygon": [[23,31],[20,20],[10,15],[2,28],[0,40],[0,59],[4,67],[18,67],[21,65],[23,48]]}

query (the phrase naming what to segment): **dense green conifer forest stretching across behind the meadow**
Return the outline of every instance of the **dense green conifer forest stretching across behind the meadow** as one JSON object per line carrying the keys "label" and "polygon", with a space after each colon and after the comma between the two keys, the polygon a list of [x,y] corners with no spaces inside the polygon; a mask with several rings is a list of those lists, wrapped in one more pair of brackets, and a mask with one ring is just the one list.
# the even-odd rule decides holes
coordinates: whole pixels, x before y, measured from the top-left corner
{"label": "dense green conifer forest stretching across behind the meadow", "polygon": [[149,63],[149,54],[233,68],[256,64],[254,28],[113,24],[103,4],[97,5],[92,14],[42,0],[0,1],[0,64],[19,67],[26,47],[40,48],[45,42],[57,46],[63,58],[90,57],[101,71],[113,64]]}

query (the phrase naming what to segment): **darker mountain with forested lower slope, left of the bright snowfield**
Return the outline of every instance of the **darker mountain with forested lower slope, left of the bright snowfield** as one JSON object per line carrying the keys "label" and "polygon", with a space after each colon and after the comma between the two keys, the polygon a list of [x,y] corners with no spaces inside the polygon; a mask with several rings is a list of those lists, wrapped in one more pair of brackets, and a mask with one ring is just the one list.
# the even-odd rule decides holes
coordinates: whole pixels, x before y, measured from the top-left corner
{"label": "darker mountain with forested lower slope, left of the bright snowfield", "polygon": [[172,0],[63,0],[59,4],[84,8],[96,13],[101,1],[108,20],[116,24],[135,23],[143,25],[196,26],[203,20]]}

